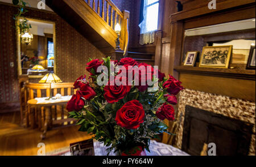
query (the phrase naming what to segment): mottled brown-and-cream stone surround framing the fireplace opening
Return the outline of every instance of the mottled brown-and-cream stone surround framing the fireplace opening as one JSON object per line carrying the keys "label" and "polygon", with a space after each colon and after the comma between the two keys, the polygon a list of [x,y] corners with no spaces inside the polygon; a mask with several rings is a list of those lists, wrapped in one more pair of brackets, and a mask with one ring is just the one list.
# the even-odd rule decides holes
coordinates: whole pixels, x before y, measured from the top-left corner
{"label": "mottled brown-and-cream stone surround framing the fireplace opening", "polygon": [[249,155],[255,156],[255,102],[184,89],[180,92],[178,104],[176,119],[181,120],[179,129],[176,132],[175,145],[177,145],[178,148],[181,149],[182,145],[185,106],[190,105],[195,108],[253,124],[253,135],[251,135]]}

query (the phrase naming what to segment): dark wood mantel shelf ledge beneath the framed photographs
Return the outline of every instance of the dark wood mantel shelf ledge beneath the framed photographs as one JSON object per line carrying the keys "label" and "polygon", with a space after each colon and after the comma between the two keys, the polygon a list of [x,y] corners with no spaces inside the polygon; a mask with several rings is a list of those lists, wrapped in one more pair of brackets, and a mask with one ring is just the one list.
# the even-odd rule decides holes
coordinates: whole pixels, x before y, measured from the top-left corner
{"label": "dark wood mantel shelf ledge beneath the framed photographs", "polygon": [[255,80],[255,70],[242,70],[240,68],[224,69],[224,68],[175,66],[174,70],[177,72],[188,73],[188,74]]}

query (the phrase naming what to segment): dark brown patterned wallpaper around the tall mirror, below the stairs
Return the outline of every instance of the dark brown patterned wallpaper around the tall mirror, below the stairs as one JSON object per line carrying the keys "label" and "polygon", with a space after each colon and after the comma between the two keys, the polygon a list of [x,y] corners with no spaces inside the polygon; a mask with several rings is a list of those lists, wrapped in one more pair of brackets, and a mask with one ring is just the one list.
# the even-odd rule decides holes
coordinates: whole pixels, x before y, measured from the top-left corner
{"label": "dark brown patterned wallpaper around the tall mirror, below the stairs", "polygon": [[[13,19],[16,12],[15,7],[0,4],[0,103],[19,99]],[[88,58],[104,57],[100,50],[55,13],[29,9],[26,16],[56,23],[56,73],[63,82],[74,82],[86,74]],[[10,62],[14,62],[13,68],[10,68]]]}

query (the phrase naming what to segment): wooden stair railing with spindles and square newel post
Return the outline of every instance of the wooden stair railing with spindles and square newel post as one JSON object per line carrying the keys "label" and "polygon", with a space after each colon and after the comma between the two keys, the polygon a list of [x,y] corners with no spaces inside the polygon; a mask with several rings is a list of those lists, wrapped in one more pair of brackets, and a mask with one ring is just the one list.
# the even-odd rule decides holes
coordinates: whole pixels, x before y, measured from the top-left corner
{"label": "wooden stair railing with spindles and square newel post", "polygon": [[125,52],[124,55],[126,55],[129,42],[130,12],[121,12],[110,0],[85,0],[85,2],[113,29],[113,31],[117,23],[121,25],[121,48]]}

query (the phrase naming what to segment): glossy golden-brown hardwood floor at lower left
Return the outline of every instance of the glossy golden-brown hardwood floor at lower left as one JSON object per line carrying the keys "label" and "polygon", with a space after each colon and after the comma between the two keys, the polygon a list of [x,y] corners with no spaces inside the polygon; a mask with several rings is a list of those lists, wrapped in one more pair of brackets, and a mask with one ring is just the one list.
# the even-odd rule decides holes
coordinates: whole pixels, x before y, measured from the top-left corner
{"label": "glossy golden-brown hardwood floor at lower left", "polygon": [[46,139],[41,140],[38,129],[20,127],[19,112],[0,114],[0,156],[37,155],[38,143],[46,144],[47,153],[91,138],[78,129],[78,126],[71,126],[49,130]]}

